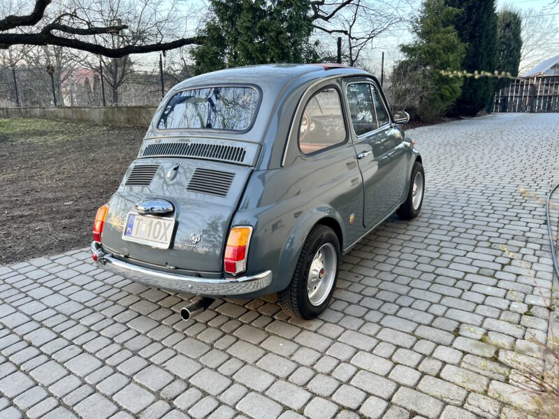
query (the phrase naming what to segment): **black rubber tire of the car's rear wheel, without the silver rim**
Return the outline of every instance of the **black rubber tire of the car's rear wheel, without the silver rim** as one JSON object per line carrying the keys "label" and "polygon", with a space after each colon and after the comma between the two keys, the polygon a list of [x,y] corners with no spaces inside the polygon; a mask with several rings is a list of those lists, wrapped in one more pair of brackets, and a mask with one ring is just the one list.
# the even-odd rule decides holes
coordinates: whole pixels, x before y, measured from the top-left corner
{"label": "black rubber tire of the car's rear wheel, without the silver rim", "polygon": [[[326,300],[320,305],[313,305],[307,293],[310,266],[317,251],[321,249],[324,244],[328,243],[332,244],[335,249],[335,277]],[[303,249],[301,250],[299,260],[295,267],[295,272],[293,272],[293,277],[291,278],[291,283],[289,283],[289,286],[284,289],[284,291],[278,293],[280,307],[282,307],[287,314],[306,320],[315,318],[321,314],[321,312],[328,307],[336,288],[337,274],[340,270],[340,258],[340,241],[337,239],[334,230],[322,224],[314,226],[307,236],[305,244],[303,244]]]}

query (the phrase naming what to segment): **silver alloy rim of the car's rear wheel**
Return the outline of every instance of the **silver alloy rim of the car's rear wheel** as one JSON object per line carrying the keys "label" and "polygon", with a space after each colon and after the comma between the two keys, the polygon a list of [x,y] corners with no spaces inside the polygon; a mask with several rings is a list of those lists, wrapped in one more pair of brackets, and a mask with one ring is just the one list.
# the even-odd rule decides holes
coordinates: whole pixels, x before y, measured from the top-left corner
{"label": "silver alloy rim of the car's rear wheel", "polygon": [[337,254],[333,244],[323,244],[314,254],[307,277],[307,295],[314,306],[319,306],[332,290],[336,275]]}

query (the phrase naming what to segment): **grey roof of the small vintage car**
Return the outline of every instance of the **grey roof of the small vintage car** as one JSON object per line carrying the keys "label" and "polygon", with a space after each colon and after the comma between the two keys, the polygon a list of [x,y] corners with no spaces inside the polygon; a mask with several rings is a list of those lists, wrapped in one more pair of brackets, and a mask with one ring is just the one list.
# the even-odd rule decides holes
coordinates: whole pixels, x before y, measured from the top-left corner
{"label": "grey roof of the small vintage car", "polygon": [[261,89],[279,91],[286,84],[293,84],[297,80],[312,82],[331,75],[345,74],[369,75],[366,71],[342,66],[341,64],[263,64],[226,68],[225,70],[196,75],[178,83],[173,87],[173,90],[210,84],[256,84]]}

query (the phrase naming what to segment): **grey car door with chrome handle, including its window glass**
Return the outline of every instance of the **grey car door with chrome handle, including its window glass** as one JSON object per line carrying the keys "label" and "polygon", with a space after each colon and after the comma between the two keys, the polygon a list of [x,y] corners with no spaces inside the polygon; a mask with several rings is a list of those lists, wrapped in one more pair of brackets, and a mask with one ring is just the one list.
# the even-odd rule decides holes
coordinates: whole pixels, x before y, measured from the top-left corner
{"label": "grey car door with chrome handle, including its window glass", "polygon": [[373,80],[348,82],[346,96],[363,176],[363,224],[375,226],[400,205],[407,172],[406,146]]}

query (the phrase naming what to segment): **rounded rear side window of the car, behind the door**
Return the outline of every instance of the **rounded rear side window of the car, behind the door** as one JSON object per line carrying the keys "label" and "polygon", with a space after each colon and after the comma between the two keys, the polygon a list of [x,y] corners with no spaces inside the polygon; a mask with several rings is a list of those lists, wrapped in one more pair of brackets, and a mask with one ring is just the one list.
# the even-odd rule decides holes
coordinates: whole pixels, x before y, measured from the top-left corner
{"label": "rounded rear side window of the car, behind the door", "polygon": [[328,87],[307,102],[299,124],[299,147],[311,154],[346,139],[340,94]]}

